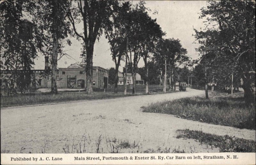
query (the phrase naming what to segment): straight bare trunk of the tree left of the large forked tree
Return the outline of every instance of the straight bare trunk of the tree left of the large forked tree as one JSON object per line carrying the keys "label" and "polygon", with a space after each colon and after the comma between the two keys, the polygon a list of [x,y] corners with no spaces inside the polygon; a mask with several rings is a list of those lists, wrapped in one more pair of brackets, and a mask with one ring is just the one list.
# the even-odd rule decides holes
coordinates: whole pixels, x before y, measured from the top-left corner
{"label": "straight bare trunk of the tree left of the large forked tree", "polygon": [[58,37],[56,31],[53,33],[52,45],[52,93],[58,94],[57,89],[57,59],[58,59]]}

